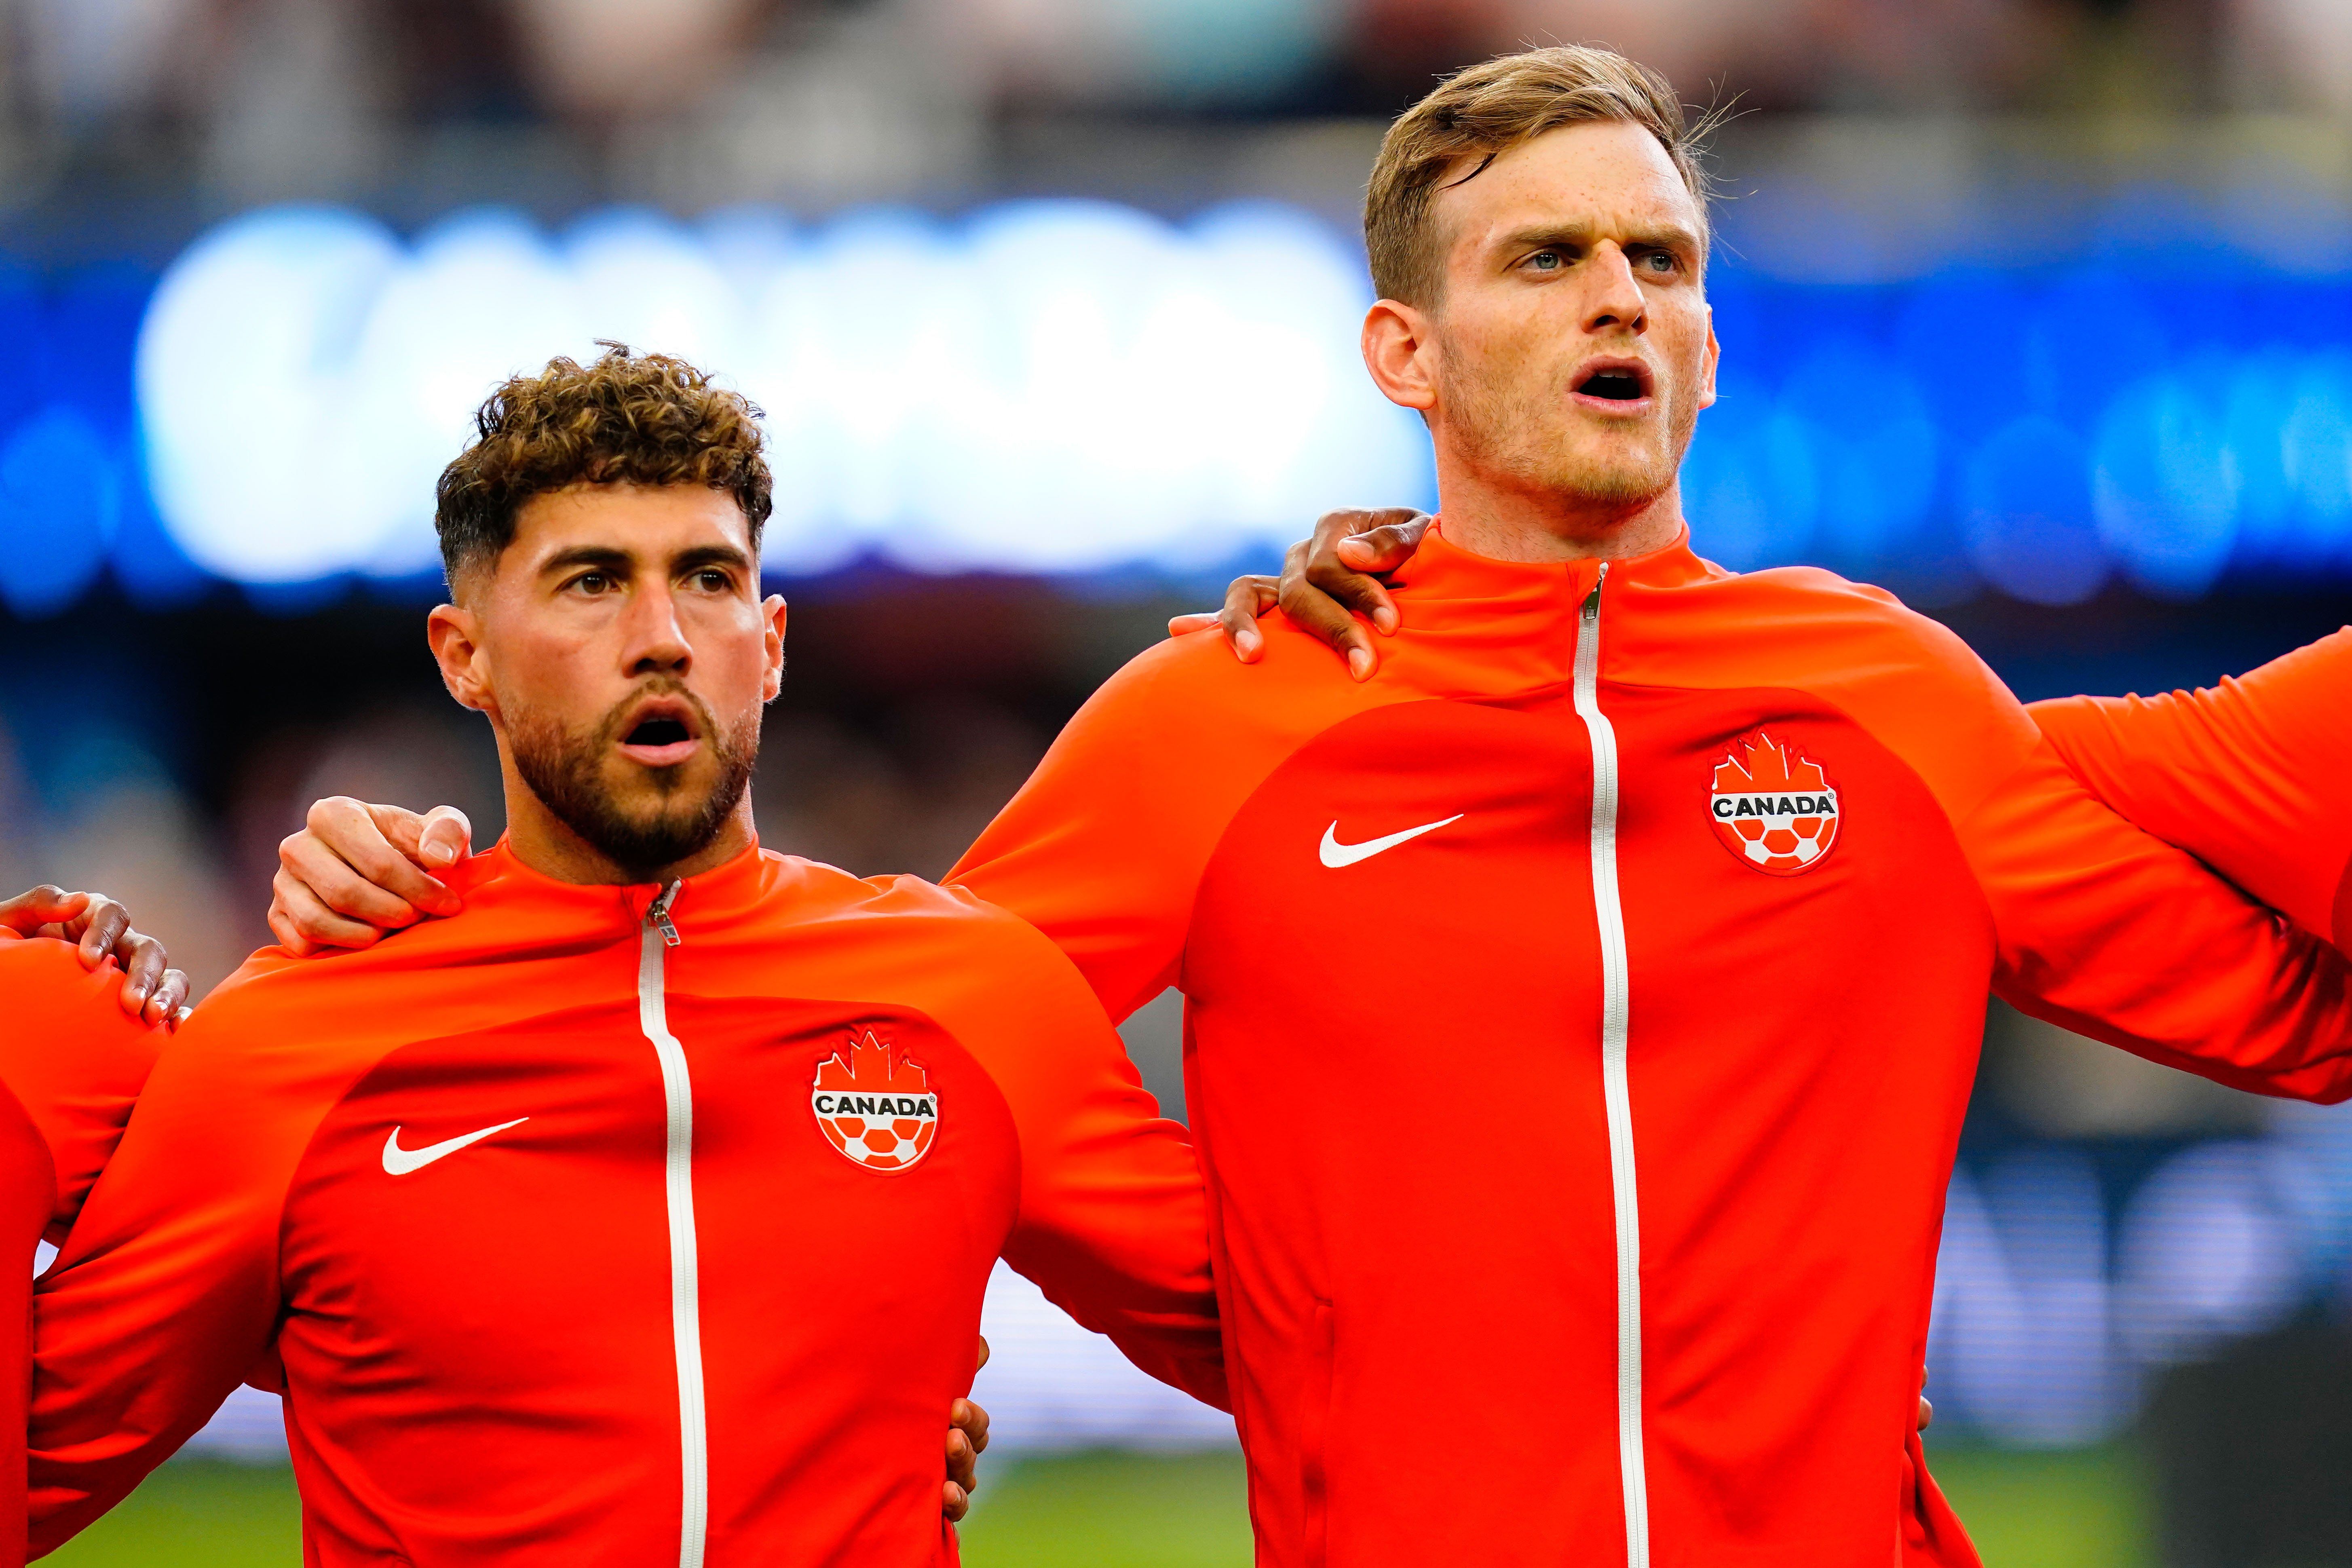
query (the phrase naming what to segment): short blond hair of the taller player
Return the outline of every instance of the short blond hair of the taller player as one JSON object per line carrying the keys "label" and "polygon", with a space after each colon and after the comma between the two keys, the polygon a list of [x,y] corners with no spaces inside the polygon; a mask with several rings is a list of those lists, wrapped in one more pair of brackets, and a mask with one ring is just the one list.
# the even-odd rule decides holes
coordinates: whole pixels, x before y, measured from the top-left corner
{"label": "short blond hair of the taller player", "polygon": [[1484,158],[1484,169],[1522,141],[1595,120],[1639,125],[1658,139],[1698,202],[1705,242],[1712,188],[1700,141],[1717,118],[1708,113],[1693,122],[1675,87],[1639,61],[1613,49],[1557,45],[1456,71],[1388,127],[1364,188],[1371,287],[1381,299],[1435,306],[1444,282],[1444,254],[1430,223],[1439,181],[1465,158]]}

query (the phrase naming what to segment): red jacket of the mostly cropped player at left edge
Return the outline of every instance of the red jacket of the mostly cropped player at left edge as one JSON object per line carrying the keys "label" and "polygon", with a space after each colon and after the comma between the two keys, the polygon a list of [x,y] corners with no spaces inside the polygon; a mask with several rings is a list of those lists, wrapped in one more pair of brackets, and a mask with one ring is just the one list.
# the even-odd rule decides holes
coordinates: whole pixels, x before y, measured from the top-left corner
{"label": "red jacket of the mostly cropped player at left edge", "polygon": [[162,1030],[122,1011],[111,961],[0,931],[0,1566],[24,1561],[33,1244],[64,1241],[106,1168]]}

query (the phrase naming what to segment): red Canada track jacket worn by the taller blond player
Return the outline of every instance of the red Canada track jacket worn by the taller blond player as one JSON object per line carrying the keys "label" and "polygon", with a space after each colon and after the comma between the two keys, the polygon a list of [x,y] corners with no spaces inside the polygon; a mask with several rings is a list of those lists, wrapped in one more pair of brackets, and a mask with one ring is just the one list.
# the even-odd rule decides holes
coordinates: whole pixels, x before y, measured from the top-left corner
{"label": "red Canada track jacket worn by the taller blond player", "polygon": [[1145,651],[955,872],[1188,994],[1258,1561],[1973,1561],[1912,1420],[1987,987],[2343,1098],[2343,959],[1884,592],[1442,529],[1399,583],[1364,684]]}

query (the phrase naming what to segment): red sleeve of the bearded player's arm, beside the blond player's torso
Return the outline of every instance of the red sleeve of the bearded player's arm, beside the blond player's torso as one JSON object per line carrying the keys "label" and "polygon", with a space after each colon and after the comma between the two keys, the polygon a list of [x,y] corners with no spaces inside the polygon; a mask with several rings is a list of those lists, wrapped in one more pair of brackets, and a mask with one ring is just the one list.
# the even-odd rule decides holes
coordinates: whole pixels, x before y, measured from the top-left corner
{"label": "red sleeve of the bearded player's arm, beside the blond player's torso", "polygon": [[1004,1262],[1152,1378],[1230,1410],[1192,1145],[1157,1114],[1084,980],[1035,929],[993,914],[993,994],[957,1037],[1021,1138]]}

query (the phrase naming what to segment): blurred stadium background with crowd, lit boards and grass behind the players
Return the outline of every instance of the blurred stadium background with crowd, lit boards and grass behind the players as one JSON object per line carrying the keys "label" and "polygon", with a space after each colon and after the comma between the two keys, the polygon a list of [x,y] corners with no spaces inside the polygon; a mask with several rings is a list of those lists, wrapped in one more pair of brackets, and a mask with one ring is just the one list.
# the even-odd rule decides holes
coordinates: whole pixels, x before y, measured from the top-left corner
{"label": "blurred stadium background with crowd, lit boards and grass behind the players", "polygon": [[[0,0],[0,884],[209,987],[318,795],[456,802],[430,482],[595,339],[771,414],[769,844],[936,877],[1167,614],[1428,503],[1355,214],[1437,73],[1740,113],[1696,545],[2020,696],[2352,616],[2352,0]],[[1181,1114],[1169,999],[1127,1030]],[[2352,1119],[1994,1006],[1929,1392],[1994,1563],[2352,1563]],[[1232,1432],[1018,1279],[974,1563],[1244,1563]],[[1454,1441],[1399,1432],[1399,1443]],[[292,1563],[240,1396],[59,1561]]]}

